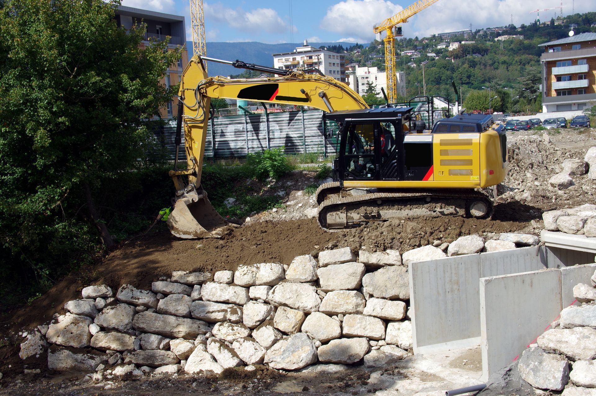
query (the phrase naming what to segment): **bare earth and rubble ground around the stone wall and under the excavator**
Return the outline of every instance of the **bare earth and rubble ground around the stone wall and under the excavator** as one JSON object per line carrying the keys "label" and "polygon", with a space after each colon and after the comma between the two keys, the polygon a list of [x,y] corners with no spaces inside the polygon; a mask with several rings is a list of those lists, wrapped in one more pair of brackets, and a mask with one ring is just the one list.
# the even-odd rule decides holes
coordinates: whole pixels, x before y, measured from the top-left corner
{"label": "bare earth and rubble ground around the stone wall and under the excavator", "polygon": [[[498,186],[495,214],[491,220],[461,217],[393,220],[326,232],[312,218],[316,202],[314,196],[305,191],[307,186],[321,181],[315,179],[314,171],[296,170],[280,180],[260,186],[259,194],[283,197],[283,207],[255,213],[248,221],[238,219],[241,225],[229,227],[221,239],[182,240],[164,230],[123,241],[101,262],[64,277],[30,305],[24,302],[22,307],[2,313],[0,341],[4,340],[4,346],[0,348],[0,372],[4,378],[0,379],[0,394],[178,395],[197,392],[223,395],[265,391],[272,394],[303,391],[315,395],[361,394],[387,389],[388,382],[381,381],[384,375],[392,376],[394,381],[407,378],[412,386],[418,383],[418,392],[424,391],[426,382],[445,380],[446,386],[470,385],[470,379],[479,378],[482,371],[479,350],[460,352],[461,356],[467,356],[461,357],[461,361],[447,358],[448,353],[434,356],[433,364],[427,362],[429,357],[412,357],[373,376],[362,366],[323,373],[284,373],[259,366],[253,372],[231,370],[213,378],[184,375],[167,379],[125,378],[125,381],[114,381],[111,389],[103,390],[92,383],[80,383],[82,376],[48,373],[42,366],[23,367],[18,358],[20,341],[17,332],[48,323],[54,313],[64,313],[64,303],[78,298],[80,290],[90,284],[105,283],[117,289],[123,283],[131,283],[138,288],[150,289],[151,282],[159,277],[169,277],[174,270],[214,272],[234,270],[240,264],[290,264],[297,255],[316,256],[322,250],[336,247],[370,251],[396,249],[403,253],[434,241],[452,242],[462,235],[478,234],[485,239],[495,238],[502,232],[538,235],[542,229],[543,211],[594,203],[596,192],[596,180],[589,180],[588,176],[573,176],[575,185],[562,191],[548,183],[551,176],[561,171],[563,160],[583,159],[586,150],[596,146],[596,129],[551,130],[543,136],[545,132],[508,133],[510,171],[505,182]],[[239,180],[239,183],[246,183],[246,180]],[[251,183],[257,182],[253,180]],[[492,194],[492,191],[487,193]],[[432,366],[437,363],[439,369],[445,370],[442,374],[433,373]],[[25,368],[39,368],[41,373],[23,375]],[[421,374],[423,372],[428,376]],[[249,385],[250,389],[243,388]]]}

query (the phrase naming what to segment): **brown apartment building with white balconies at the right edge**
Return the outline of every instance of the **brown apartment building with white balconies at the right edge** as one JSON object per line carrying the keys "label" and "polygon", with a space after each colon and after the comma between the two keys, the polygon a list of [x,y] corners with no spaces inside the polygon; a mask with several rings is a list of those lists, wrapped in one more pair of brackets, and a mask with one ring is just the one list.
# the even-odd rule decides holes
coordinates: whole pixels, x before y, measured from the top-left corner
{"label": "brown apartment building with white balconies at the right edge", "polygon": [[544,48],[542,111],[582,110],[596,100],[596,33],[539,44]]}

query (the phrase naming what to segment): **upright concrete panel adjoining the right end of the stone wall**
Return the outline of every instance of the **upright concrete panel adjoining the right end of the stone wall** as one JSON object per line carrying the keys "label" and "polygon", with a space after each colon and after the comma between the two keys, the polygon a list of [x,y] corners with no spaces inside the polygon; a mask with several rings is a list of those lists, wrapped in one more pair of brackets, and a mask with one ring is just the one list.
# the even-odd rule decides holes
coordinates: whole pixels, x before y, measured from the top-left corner
{"label": "upright concrete panel adjoining the right end of the stone wall", "polygon": [[480,336],[479,254],[410,263],[409,277],[414,353]]}

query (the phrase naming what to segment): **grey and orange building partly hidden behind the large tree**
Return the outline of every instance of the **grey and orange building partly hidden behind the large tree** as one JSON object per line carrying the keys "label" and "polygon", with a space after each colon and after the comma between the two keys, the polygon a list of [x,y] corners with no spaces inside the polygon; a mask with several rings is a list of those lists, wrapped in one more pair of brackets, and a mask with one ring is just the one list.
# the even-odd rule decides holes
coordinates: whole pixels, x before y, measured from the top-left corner
{"label": "grey and orange building partly hidden behind the large tree", "polygon": [[[166,37],[170,38],[168,48],[175,49],[179,45],[186,45],[186,28],[183,16],[141,10],[123,5],[120,5],[116,10],[116,23],[124,29],[131,29],[135,25],[138,26],[141,21],[147,24],[147,33],[145,33],[145,40],[142,41],[142,48],[149,45],[150,39],[162,41]],[[167,87],[178,84],[182,70],[187,63],[188,50],[185,48],[178,62],[168,68],[162,83]],[[164,108],[160,109],[162,119],[172,119],[178,115],[176,114],[176,98],[178,96],[174,96]]]}

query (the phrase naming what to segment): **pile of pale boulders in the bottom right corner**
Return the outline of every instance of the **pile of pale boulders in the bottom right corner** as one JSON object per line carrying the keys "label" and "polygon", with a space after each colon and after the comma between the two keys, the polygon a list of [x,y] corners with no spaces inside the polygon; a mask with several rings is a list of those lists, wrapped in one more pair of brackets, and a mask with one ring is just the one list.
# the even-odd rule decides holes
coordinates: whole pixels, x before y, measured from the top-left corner
{"label": "pile of pale boulders in the bottom right corner", "polygon": [[[583,302],[561,311],[560,319],[538,337],[519,360],[518,370],[534,388],[564,396],[596,392],[596,272],[592,285],[580,283],[573,296]],[[563,390],[564,389],[564,390]]]}

